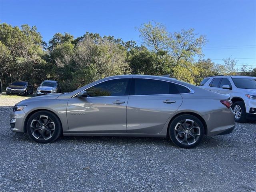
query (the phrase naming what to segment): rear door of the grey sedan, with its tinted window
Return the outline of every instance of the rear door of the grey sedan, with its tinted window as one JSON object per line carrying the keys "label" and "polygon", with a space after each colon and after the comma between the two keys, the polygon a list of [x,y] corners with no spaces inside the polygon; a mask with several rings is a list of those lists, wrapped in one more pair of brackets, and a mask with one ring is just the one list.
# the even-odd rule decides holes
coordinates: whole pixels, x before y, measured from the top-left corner
{"label": "rear door of the grey sedan, with its tinted window", "polygon": [[174,83],[133,78],[127,104],[127,133],[159,133],[182,101]]}

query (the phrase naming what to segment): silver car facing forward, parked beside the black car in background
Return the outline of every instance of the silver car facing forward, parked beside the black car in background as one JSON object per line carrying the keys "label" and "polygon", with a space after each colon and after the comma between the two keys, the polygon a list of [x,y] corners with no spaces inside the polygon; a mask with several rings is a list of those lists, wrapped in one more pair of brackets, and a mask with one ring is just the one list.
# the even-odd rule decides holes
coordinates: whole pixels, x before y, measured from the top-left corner
{"label": "silver car facing forward, parked beside the black car in background", "polygon": [[58,81],[45,80],[36,90],[36,95],[60,93],[61,88]]}

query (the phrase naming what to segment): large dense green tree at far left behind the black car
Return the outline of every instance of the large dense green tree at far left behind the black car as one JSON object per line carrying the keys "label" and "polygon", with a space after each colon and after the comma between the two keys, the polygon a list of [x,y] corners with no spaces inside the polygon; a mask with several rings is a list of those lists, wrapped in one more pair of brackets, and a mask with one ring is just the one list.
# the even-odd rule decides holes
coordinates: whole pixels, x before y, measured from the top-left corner
{"label": "large dense green tree at far left behind the black car", "polygon": [[3,84],[14,80],[38,83],[46,77],[42,36],[35,26],[22,25],[21,29],[0,24],[0,67]]}

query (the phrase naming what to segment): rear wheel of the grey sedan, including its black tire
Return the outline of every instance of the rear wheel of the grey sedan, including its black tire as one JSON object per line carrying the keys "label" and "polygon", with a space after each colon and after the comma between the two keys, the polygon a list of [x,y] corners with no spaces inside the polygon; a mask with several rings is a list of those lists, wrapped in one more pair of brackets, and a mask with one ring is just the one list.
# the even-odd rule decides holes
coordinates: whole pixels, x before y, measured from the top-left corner
{"label": "rear wheel of the grey sedan, including its black tire", "polygon": [[172,120],[169,126],[169,136],[175,145],[181,148],[193,148],[204,138],[204,125],[193,115],[180,115]]}

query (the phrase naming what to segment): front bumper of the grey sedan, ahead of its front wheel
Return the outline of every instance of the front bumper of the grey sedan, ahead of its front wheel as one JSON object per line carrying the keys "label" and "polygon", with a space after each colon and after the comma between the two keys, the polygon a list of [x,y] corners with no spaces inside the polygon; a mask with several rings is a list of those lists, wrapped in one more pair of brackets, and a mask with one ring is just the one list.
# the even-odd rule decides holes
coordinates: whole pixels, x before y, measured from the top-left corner
{"label": "front bumper of the grey sedan, ahead of its front wheel", "polygon": [[25,121],[25,112],[23,110],[21,111],[13,111],[10,114],[10,119],[15,119],[15,123],[10,123],[11,127],[11,131],[13,132],[20,132],[20,133],[24,133],[24,121]]}

